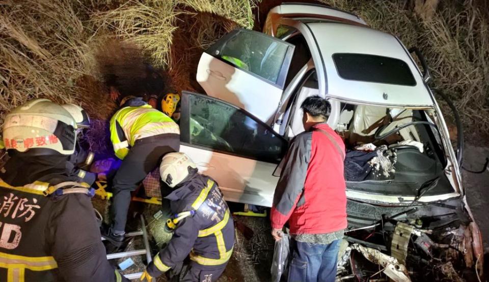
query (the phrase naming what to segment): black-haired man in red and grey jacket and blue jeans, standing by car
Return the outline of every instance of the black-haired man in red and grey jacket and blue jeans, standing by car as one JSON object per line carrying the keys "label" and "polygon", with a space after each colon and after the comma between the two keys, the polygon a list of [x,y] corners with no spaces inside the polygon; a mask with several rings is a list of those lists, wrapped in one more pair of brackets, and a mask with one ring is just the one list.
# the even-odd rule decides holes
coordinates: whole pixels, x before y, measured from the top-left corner
{"label": "black-haired man in red and grey jacket and blue jeans, standing by car", "polygon": [[301,105],[305,132],[297,135],[271,208],[271,234],[280,240],[288,221],[293,238],[288,281],[334,281],[340,239],[346,228],[343,176],[345,145],[325,122],[328,101],[309,97]]}

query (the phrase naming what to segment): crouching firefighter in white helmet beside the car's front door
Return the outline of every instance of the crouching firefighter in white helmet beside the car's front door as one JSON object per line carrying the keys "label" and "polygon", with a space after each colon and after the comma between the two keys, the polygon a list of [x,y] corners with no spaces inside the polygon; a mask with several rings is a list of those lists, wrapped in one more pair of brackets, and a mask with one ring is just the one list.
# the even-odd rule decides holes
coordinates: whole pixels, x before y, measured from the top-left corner
{"label": "crouching firefighter in white helmet beside the car's front door", "polygon": [[166,197],[171,201],[173,218],[167,227],[174,230],[173,237],[156,254],[141,280],[151,281],[163,272],[179,268],[189,256],[183,281],[216,281],[226,268],[234,245],[233,220],[218,184],[197,173],[197,166],[184,153],[165,155],[160,175],[174,189]]}

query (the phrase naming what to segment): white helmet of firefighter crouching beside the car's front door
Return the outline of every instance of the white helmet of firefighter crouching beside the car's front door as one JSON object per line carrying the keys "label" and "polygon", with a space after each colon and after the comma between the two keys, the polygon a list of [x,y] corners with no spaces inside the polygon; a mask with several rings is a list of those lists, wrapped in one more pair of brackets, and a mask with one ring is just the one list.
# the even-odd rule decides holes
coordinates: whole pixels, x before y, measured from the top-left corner
{"label": "white helmet of firefighter crouching beside the car's front door", "polygon": [[196,172],[197,165],[185,153],[179,152],[166,154],[159,166],[161,179],[172,188]]}

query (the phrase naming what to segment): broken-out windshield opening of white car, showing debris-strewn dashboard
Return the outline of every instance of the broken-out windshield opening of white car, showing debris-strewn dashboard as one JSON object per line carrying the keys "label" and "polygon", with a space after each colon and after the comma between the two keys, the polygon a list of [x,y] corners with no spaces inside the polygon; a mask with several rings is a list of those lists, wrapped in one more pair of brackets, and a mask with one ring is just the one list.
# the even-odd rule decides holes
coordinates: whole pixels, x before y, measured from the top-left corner
{"label": "broken-out windshield opening of white car, showing debris-strewn dashboard", "polygon": [[349,190],[386,196],[453,192],[437,127],[424,110],[341,104]]}

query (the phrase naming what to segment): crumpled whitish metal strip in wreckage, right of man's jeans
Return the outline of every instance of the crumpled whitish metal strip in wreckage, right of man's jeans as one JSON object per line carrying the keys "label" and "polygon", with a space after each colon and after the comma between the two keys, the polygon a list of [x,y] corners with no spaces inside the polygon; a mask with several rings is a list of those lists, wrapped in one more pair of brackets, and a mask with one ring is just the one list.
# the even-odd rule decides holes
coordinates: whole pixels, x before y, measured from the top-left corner
{"label": "crumpled whitish metal strip in wreckage, right of man's jeans", "polygon": [[368,248],[359,244],[352,244],[351,249],[360,252],[367,260],[374,264],[384,267],[382,272],[389,276],[393,281],[406,282],[411,281],[406,267],[399,263],[396,258],[381,253],[379,250]]}

